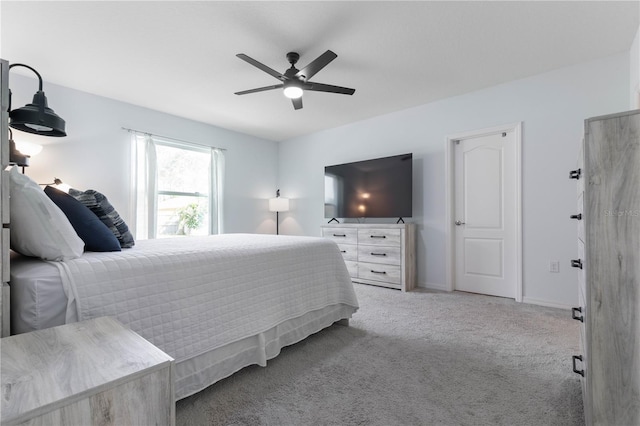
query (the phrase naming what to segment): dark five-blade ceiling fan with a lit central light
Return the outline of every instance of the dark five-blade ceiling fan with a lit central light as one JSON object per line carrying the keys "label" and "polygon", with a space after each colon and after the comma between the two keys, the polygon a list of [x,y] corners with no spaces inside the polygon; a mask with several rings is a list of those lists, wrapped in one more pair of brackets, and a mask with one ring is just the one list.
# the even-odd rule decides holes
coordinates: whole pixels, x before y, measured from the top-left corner
{"label": "dark five-blade ceiling fan with a lit central light", "polygon": [[316,75],[318,71],[326,67],[329,62],[338,57],[338,55],[330,50],[327,50],[322,55],[318,56],[314,61],[312,61],[309,65],[302,68],[301,70],[295,67],[296,62],[298,62],[298,59],[300,59],[300,55],[296,52],[287,53],[287,61],[289,61],[289,63],[291,64],[291,68],[286,70],[284,74],[280,74],[278,71],[269,68],[268,66],[256,61],[255,59],[245,55],[244,53],[239,53],[236,56],[243,61],[250,63],[254,67],[261,69],[267,74],[274,76],[282,82],[281,84],[275,84],[273,86],[243,90],[242,92],[236,92],[236,95],[246,95],[249,93],[263,92],[265,90],[284,89],[284,95],[291,99],[291,101],[293,102],[293,108],[300,109],[302,108],[302,93],[305,90],[314,92],[339,93],[343,95],[353,95],[353,93],[356,91],[355,89],[349,89],[348,87],[333,86],[331,84],[322,84],[309,81],[309,79]]}

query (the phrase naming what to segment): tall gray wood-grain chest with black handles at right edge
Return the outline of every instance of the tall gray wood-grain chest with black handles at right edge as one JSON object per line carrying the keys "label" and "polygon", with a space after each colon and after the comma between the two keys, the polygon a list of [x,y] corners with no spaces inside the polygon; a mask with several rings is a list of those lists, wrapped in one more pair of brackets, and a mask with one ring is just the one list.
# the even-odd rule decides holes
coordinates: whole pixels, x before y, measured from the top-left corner
{"label": "tall gray wood-grain chest with black handles at right edge", "polygon": [[578,169],[580,375],[587,425],[640,425],[640,110],[590,118]]}

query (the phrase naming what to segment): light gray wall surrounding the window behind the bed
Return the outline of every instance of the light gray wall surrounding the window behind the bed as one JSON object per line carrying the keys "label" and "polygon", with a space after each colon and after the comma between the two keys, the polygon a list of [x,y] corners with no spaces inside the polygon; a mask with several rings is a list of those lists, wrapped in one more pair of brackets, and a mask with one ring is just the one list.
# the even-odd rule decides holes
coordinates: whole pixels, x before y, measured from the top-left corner
{"label": "light gray wall surrounding the window behind the bed", "polygon": [[[46,76],[44,76],[46,78]],[[11,73],[13,108],[31,102],[35,79]],[[67,122],[67,137],[47,138],[20,131],[14,140],[44,146],[26,174],[39,183],[62,179],[78,189],[104,193],[125,221],[130,211],[130,134],[122,127],[225,148],[225,232],[275,232],[267,198],[276,190],[278,145],[241,133],[164,114],[89,93],[49,84],[49,107]],[[171,102],[167,91],[167,102]]]}

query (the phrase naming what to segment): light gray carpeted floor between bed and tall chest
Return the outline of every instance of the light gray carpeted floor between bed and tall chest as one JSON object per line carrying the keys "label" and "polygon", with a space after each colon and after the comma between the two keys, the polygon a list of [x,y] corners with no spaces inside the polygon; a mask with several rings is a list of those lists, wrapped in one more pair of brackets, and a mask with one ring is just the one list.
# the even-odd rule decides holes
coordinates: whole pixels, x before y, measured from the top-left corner
{"label": "light gray carpeted floor between bed and tall chest", "polygon": [[360,310],[178,401],[182,425],[582,425],[568,310],[355,284]]}

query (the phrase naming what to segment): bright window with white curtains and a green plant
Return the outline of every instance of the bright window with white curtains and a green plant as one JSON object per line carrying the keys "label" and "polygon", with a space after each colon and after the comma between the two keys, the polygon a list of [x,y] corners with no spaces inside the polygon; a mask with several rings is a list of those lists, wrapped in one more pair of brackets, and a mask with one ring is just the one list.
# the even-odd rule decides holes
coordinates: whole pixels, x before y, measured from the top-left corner
{"label": "bright window with white curtains and a green plant", "polygon": [[136,133],[134,159],[136,238],[222,232],[222,150]]}

